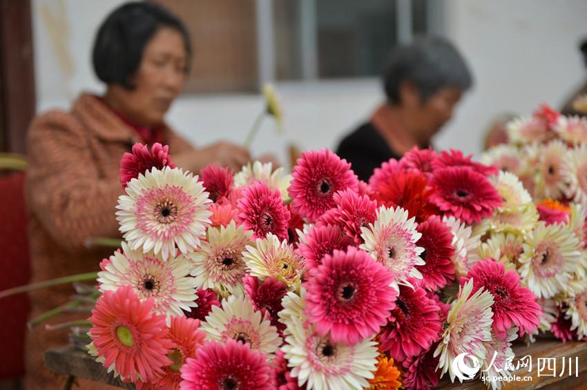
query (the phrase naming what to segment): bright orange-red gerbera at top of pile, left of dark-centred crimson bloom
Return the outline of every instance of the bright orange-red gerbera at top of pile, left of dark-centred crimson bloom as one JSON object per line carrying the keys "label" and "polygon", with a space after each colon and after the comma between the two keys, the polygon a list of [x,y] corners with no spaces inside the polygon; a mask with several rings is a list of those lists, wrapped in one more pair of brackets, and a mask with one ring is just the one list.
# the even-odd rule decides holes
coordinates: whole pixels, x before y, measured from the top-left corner
{"label": "bright orange-red gerbera at top of pile, left of dark-centred crimson bloom", "polygon": [[386,181],[379,182],[373,195],[379,205],[407,210],[416,222],[422,222],[430,215],[439,214],[436,205],[432,204],[431,195],[434,189],[427,186],[428,181],[422,173],[397,172]]}

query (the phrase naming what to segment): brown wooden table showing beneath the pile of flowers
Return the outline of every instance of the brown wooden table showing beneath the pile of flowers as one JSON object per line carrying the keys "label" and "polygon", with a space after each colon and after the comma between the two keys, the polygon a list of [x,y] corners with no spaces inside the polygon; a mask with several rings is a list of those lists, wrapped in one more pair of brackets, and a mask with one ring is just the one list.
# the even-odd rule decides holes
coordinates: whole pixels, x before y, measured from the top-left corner
{"label": "brown wooden table showing beneath the pile of flowers", "polygon": [[[503,389],[552,389],[552,390],[581,390],[587,389],[587,342],[566,342],[562,343],[556,340],[538,340],[535,344],[526,347],[525,344],[514,344],[514,353],[516,358],[525,355],[532,356],[532,371],[520,369],[515,372],[518,376],[532,376],[529,382],[510,382],[504,384]],[[559,377],[561,358],[579,358],[578,376],[575,376],[575,367],[573,367],[572,376],[568,376],[566,369],[564,376]],[[539,358],[557,358],[557,376],[538,376],[537,362]],[[113,378],[113,374],[108,374],[106,369],[95,362],[95,360],[82,351],[73,347],[61,347],[45,352],[45,364],[48,369],[61,373],[69,378],[77,377],[95,382],[104,382],[113,386],[124,389],[135,389],[133,384],[123,383]],[[448,376],[448,374],[445,374]],[[445,378],[441,381],[437,389],[468,389],[468,390],[486,390],[487,386],[480,380],[471,380],[462,384],[452,384]]]}

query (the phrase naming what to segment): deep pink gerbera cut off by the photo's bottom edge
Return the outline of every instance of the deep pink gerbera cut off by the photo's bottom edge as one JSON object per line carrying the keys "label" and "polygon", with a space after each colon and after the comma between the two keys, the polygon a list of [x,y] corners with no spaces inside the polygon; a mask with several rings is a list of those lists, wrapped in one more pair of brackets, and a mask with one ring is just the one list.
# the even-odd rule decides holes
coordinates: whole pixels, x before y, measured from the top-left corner
{"label": "deep pink gerbera cut off by the photo's bottom edge", "polygon": [[182,366],[182,390],[271,390],[271,368],[265,355],[248,344],[206,342]]}

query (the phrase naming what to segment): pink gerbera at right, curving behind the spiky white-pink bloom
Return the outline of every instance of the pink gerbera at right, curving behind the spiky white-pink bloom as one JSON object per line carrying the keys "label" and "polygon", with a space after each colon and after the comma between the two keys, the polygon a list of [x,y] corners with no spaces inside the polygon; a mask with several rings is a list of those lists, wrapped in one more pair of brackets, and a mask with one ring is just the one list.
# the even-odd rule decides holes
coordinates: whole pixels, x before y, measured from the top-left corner
{"label": "pink gerbera at right, curving behind the spiky white-pink bloom", "polygon": [[473,280],[472,292],[479,289],[493,295],[493,329],[505,332],[512,325],[520,329],[520,335],[534,331],[540,324],[542,309],[536,295],[520,285],[520,277],[514,270],[506,272],[501,262],[493,259],[473,264],[466,277],[461,277],[461,286]]}

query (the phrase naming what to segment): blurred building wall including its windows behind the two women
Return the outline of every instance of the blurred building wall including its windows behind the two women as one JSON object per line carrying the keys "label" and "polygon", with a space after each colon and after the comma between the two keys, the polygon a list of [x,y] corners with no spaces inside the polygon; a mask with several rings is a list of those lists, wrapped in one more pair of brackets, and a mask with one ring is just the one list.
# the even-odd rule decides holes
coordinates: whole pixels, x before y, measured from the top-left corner
{"label": "blurred building wall including its windows behind the two women", "polygon": [[[276,83],[284,133],[271,121],[253,152],[334,148],[383,98],[389,50],[415,34],[445,35],[468,59],[475,86],[436,139],[437,148],[481,150],[499,113],[559,108],[586,77],[579,42],[584,0],[160,0],[191,29],[195,57],[168,121],[195,144],[242,142],[264,81]],[[37,112],[67,109],[81,90],[101,92],[90,49],[120,0],[32,0]]]}

